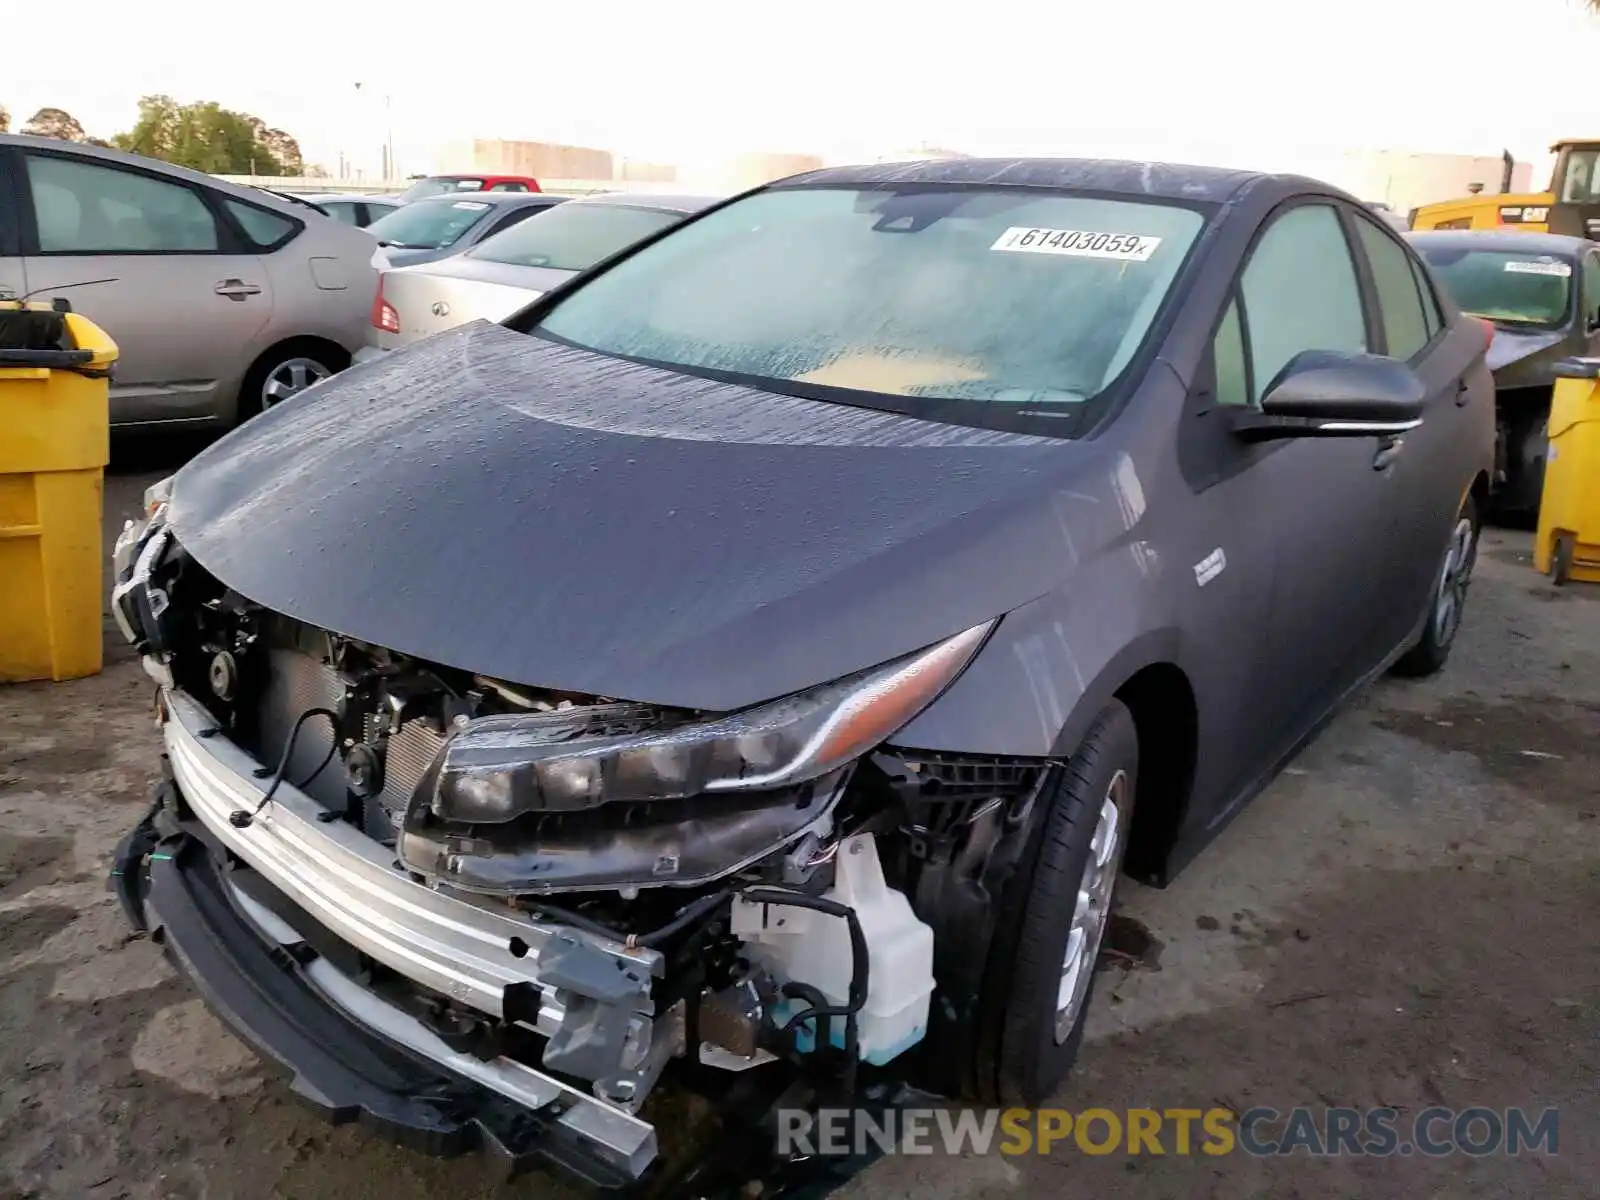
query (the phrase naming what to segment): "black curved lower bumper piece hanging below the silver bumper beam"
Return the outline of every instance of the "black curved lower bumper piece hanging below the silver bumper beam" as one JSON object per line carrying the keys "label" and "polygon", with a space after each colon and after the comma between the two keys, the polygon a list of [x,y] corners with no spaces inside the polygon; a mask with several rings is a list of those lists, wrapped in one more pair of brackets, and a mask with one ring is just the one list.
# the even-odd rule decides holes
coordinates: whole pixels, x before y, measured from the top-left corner
{"label": "black curved lower bumper piece hanging below the silver bumper beam", "polygon": [[309,946],[286,952],[245,920],[200,830],[163,824],[152,811],[123,840],[114,890],[134,926],[323,1118],[360,1122],[422,1154],[483,1150],[509,1173],[547,1165],[606,1192],[637,1184],[648,1162],[608,1162],[562,1123],[563,1106],[530,1110],[352,1019],[312,982],[320,958]]}

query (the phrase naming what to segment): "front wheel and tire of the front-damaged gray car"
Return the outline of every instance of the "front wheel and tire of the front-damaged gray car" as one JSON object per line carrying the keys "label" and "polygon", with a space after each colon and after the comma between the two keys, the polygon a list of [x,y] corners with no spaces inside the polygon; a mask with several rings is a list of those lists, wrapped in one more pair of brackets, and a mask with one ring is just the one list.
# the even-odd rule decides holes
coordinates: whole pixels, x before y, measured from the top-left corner
{"label": "front wheel and tire of the front-damaged gray car", "polygon": [[[1032,867],[1019,870],[1002,896],[984,973],[981,1027],[974,1038],[978,1062],[970,1075],[974,1099],[981,1102],[1038,1106],[1078,1056],[1094,992],[1094,962],[1133,826],[1138,773],[1139,734],[1133,714],[1112,701],[1094,718],[1077,754],[1046,784],[1035,818]],[[1115,810],[1109,843],[1102,821],[1107,806]],[[1093,874],[1091,856],[1098,861]],[[1077,898],[1091,878],[1099,886],[1088,912],[1098,923],[1080,939],[1075,978],[1082,982],[1062,1016]]]}

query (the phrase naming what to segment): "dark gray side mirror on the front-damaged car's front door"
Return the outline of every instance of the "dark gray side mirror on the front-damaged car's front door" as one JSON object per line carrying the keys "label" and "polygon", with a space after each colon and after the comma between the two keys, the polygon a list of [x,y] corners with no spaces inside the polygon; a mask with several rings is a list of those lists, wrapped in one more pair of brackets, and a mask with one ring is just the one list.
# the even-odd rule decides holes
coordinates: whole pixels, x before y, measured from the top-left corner
{"label": "dark gray side mirror on the front-damaged car's front door", "polygon": [[1427,389],[1405,363],[1376,354],[1302,350],[1261,397],[1229,410],[1246,442],[1285,437],[1392,437],[1422,424]]}

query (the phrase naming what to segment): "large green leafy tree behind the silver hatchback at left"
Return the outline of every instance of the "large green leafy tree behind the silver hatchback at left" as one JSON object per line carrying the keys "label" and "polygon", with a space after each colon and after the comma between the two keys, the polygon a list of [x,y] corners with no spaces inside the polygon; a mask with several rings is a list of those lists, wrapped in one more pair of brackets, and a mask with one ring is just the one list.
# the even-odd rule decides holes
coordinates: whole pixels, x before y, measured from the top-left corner
{"label": "large green leafy tree behind the silver hatchback at left", "polygon": [[258,117],[232,112],[214,101],[179,104],[171,96],[139,99],[139,120],[112,138],[118,149],[189,166],[208,174],[285,174],[278,157],[299,146],[282,130],[269,130]]}

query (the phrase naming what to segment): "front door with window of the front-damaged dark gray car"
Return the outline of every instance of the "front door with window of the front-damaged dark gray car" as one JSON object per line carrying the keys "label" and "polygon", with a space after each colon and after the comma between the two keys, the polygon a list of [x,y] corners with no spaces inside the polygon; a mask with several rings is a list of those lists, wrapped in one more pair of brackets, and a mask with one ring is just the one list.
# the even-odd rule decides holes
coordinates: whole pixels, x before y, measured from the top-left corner
{"label": "front door with window of the front-damaged dark gray car", "polygon": [[1219,608],[1211,627],[1234,630],[1190,651],[1197,690],[1234,698],[1227,720],[1202,736],[1195,826],[1222,821],[1229,810],[1216,802],[1274,766],[1381,654],[1394,478],[1378,438],[1246,443],[1227,419],[1258,406],[1302,350],[1370,342],[1339,211],[1280,210],[1222,312],[1179,443],[1195,493],[1190,605]]}

